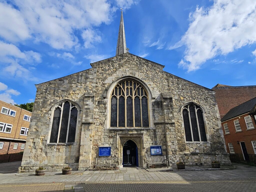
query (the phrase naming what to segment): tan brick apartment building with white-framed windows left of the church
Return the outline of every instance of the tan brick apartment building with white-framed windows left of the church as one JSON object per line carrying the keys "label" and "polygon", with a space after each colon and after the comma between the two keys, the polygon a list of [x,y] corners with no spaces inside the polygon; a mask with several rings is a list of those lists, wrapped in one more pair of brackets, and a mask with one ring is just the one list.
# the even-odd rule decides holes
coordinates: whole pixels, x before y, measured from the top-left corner
{"label": "tan brick apartment building with white-framed windows left of the church", "polygon": [[31,112],[0,100],[0,155],[24,150]]}

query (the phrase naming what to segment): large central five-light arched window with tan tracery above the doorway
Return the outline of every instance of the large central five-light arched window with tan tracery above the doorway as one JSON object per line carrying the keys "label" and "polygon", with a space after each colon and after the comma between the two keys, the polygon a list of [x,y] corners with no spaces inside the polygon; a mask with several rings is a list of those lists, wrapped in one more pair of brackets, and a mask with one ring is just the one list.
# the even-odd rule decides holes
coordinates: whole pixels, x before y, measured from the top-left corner
{"label": "large central five-light arched window with tan tracery above the doorway", "polygon": [[133,80],[119,82],[110,98],[110,127],[149,127],[148,94]]}

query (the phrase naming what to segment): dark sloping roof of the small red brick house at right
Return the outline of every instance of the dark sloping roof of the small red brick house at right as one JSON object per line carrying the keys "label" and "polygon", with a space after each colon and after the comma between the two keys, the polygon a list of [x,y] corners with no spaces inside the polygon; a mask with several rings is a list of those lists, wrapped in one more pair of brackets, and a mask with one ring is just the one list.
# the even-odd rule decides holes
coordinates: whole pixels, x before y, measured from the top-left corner
{"label": "dark sloping roof of the small red brick house at right", "polygon": [[229,119],[232,119],[234,117],[240,116],[248,112],[254,113],[255,106],[256,97],[230,109],[229,112],[227,112],[227,114],[221,119],[221,122],[227,121]]}

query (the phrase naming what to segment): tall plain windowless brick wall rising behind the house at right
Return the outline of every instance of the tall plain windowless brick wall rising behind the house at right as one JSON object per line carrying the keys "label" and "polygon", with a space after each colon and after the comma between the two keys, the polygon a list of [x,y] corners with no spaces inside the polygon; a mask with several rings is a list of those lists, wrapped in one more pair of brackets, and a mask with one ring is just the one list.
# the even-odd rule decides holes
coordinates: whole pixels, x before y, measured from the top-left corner
{"label": "tall plain windowless brick wall rising behind the house at right", "polygon": [[256,97],[256,86],[216,87],[215,97],[218,104],[220,118],[230,109]]}

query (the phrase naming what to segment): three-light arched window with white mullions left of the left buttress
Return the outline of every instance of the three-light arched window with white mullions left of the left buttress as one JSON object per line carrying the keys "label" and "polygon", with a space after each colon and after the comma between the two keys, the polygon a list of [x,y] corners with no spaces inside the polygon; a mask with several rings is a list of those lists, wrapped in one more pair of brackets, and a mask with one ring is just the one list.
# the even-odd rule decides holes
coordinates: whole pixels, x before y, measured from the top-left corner
{"label": "three-light arched window with white mullions left of the left buttress", "polygon": [[65,100],[54,107],[50,143],[74,143],[77,129],[78,107]]}

